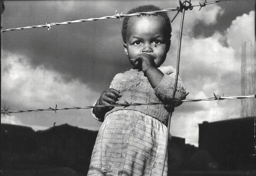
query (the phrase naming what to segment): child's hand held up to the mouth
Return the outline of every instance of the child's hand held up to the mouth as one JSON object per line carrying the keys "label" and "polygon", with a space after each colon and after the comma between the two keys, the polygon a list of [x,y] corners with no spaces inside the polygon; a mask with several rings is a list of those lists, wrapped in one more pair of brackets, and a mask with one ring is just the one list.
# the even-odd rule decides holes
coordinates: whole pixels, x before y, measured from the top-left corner
{"label": "child's hand held up to the mouth", "polygon": [[150,67],[156,67],[154,58],[147,53],[139,54],[133,59],[133,62],[135,63],[136,67],[142,69],[143,73],[146,73],[147,69]]}

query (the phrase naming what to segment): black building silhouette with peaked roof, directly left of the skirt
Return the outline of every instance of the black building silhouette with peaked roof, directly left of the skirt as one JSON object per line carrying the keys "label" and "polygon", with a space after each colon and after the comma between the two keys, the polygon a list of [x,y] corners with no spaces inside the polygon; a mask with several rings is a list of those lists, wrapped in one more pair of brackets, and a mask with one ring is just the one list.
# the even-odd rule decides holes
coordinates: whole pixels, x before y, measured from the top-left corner
{"label": "black building silhouette with peaked roof, directly left of the skirt", "polygon": [[98,131],[62,124],[36,133],[39,160],[80,171],[89,166]]}

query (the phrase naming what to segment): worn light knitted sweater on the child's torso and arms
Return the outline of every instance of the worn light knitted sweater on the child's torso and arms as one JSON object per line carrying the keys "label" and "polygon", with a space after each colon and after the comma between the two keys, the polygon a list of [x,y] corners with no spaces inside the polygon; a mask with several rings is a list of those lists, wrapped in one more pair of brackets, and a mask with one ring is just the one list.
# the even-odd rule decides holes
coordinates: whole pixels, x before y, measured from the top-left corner
{"label": "worn light knitted sweater on the child's torso and arms", "polygon": [[[155,89],[152,88],[144,73],[137,69],[131,69],[124,73],[118,73],[113,78],[110,88],[120,90],[121,97],[119,102],[124,103],[144,103],[144,102],[165,102],[173,94],[176,69],[172,66],[159,67],[164,73],[162,81]],[[177,91],[175,98],[180,100],[186,95],[185,87],[182,83],[180,76],[178,77]],[[177,104],[176,106],[178,106]],[[169,112],[165,109],[164,104],[157,105],[140,105],[128,107],[115,107],[105,114],[105,117],[114,111],[120,109],[130,109],[142,112],[146,115],[158,119],[164,124],[168,122]],[[100,120],[100,119],[99,119]]]}

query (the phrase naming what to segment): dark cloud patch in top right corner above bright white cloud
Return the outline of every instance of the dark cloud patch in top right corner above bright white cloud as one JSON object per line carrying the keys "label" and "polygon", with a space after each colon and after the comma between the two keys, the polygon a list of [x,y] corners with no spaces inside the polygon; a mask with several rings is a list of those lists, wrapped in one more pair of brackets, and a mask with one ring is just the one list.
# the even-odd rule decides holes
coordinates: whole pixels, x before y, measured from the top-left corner
{"label": "dark cloud patch in top right corner above bright white cloud", "polygon": [[[217,16],[217,23],[206,24],[203,21],[198,20],[192,30],[193,37],[210,37],[214,34],[215,31],[223,33],[231,25],[231,22],[236,19],[237,16],[241,16],[244,13],[249,14],[251,10],[255,10],[255,0],[227,1],[220,2],[218,5],[224,9],[224,13]],[[203,10],[203,8],[204,7],[202,7],[201,10]],[[222,44],[223,46],[227,46],[226,42]]]}

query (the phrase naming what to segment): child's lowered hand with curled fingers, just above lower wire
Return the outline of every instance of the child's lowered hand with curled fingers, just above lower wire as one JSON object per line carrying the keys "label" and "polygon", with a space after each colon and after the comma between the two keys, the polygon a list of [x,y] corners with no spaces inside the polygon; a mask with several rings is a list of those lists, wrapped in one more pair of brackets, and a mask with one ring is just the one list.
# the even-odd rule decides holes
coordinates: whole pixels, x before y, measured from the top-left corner
{"label": "child's lowered hand with curled fingers, just above lower wire", "polygon": [[115,89],[104,90],[99,98],[99,105],[111,105],[118,104],[118,100],[121,97],[120,91]]}

